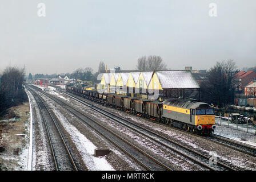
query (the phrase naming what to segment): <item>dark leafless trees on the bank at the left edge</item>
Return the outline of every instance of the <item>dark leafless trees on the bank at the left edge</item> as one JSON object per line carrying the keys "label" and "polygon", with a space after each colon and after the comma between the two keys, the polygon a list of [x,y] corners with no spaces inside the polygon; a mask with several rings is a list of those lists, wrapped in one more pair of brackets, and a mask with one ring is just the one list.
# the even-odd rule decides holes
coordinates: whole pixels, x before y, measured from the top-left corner
{"label": "dark leafless trees on the bank at the left edge", "polygon": [[7,67],[0,82],[0,115],[6,109],[26,102],[27,94],[22,86],[25,81],[25,69]]}

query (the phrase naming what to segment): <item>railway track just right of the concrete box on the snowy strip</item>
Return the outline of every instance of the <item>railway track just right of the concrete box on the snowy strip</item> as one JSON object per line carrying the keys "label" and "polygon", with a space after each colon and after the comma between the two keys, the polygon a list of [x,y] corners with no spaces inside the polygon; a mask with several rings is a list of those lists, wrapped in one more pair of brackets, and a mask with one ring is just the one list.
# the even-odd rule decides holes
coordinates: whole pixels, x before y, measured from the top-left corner
{"label": "railway track just right of the concrete box on the snowy strip", "polygon": [[73,106],[59,100],[54,96],[51,96],[50,94],[42,92],[41,89],[38,89],[38,91],[44,94],[46,97],[49,97],[51,100],[57,102],[66,110],[70,111],[70,113],[72,113],[77,118],[79,118],[82,123],[85,123],[86,125],[90,126],[93,130],[97,131],[98,134],[105,137],[107,140],[109,140],[111,143],[117,146],[120,150],[122,150],[131,158],[133,158],[135,161],[137,161],[145,169],[155,170],[155,171],[173,170],[170,167],[163,164],[162,162],[160,162],[159,160],[155,159],[150,154],[147,154],[146,152],[144,152],[139,147],[130,143],[126,139],[122,138],[121,136],[118,136],[117,134],[115,134],[114,131],[111,131],[110,129],[103,126],[101,123],[95,121],[94,119],[87,117],[85,114],[81,113],[81,111],[73,108]]}

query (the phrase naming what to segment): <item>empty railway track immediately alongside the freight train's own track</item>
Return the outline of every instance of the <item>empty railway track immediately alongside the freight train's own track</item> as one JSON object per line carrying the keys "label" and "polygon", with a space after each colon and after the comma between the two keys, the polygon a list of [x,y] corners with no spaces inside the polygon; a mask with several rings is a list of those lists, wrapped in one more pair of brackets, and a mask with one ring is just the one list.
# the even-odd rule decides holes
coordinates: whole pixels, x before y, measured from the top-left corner
{"label": "empty railway track immediately alongside the freight train's own track", "polygon": [[[59,92],[62,92],[62,90],[58,89]],[[62,92],[63,94],[66,94],[65,92]],[[210,163],[210,158],[200,154],[199,152],[193,151],[190,148],[187,148],[183,146],[180,143],[174,142],[170,139],[167,139],[165,137],[162,137],[161,135],[158,135],[157,133],[154,133],[153,131],[144,129],[141,126],[135,125],[134,123],[131,123],[129,121],[126,121],[123,118],[118,117],[117,115],[114,115],[112,113],[109,113],[100,107],[97,107],[95,105],[91,105],[89,102],[81,100],[78,96],[70,96],[69,94],[66,94],[67,96],[73,98],[74,100],[80,102],[81,104],[84,104],[91,109],[106,115],[107,117],[117,121],[118,123],[121,123],[122,125],[129,127],[130,129],[136,131],[139,134],[145,135],[147,138],[150,138],[151,140],[154,140],[154,142],[157,142],[161,144],[162,146],[165,146],[166,148],[169,148],[170,150],[176,152],[179,155],[184,156],[185,158],[193,161],[194,163],[199,164],[203,168],[210,169],[210,170],[234,170],[233,168],[226,166],[222,163]]]}

